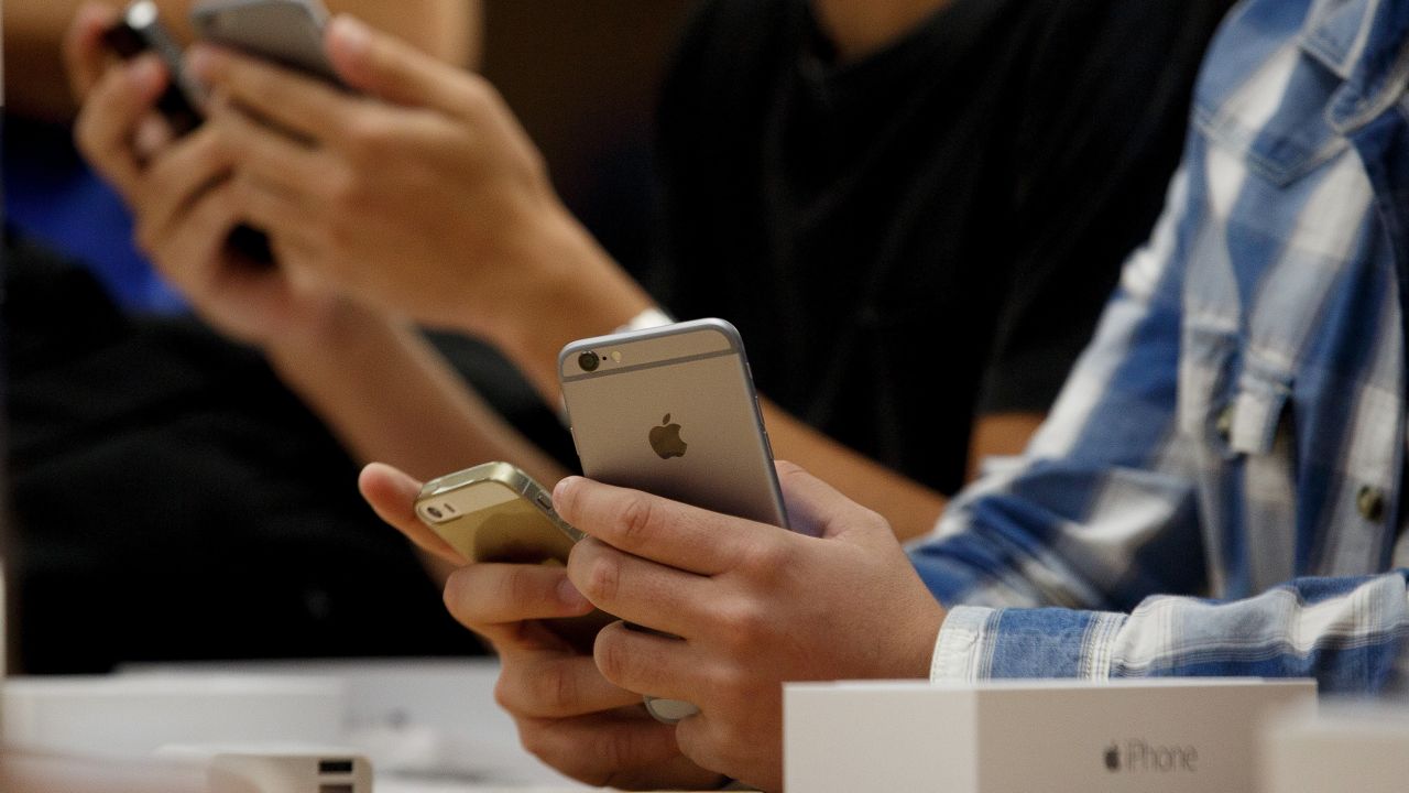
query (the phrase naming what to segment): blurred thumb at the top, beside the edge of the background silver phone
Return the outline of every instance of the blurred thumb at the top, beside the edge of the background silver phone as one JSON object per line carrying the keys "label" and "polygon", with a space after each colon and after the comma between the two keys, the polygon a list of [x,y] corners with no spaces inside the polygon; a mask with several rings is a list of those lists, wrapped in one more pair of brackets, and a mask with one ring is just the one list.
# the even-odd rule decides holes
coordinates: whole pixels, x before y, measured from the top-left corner
{"label": "blurred thumb at the top, beside the edge of the background silver phone", "polygon": [[324,47],[348,87],[393,104],[454,113],[464,73],[351,14],[330,24]]}

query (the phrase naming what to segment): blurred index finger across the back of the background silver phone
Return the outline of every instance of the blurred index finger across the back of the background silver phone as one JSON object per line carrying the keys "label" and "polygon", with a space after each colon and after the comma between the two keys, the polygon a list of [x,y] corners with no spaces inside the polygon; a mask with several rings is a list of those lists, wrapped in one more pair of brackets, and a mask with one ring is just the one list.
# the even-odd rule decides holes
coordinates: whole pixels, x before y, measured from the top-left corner
{"label": "blurred index finger across the back of the background silver phone", "polygon": [[351,121],[349,95],[321,79],[210,44],[193,45],[186,63],[242,107],[314,141],[335,138]]}

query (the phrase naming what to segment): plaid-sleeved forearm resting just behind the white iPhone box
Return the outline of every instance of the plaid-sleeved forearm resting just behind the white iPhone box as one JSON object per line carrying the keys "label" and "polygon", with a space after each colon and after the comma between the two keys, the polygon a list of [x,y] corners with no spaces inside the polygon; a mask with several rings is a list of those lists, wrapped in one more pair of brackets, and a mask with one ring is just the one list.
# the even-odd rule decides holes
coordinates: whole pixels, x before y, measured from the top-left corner
{"label": "plaid-sleeved forearm resting just behind the white iPhone box", "polygon": [[1381,693],[1403,683],[1405,577],[1301,579],[1219,604],[1151,597],[1129,615],[961,607],[931,677],[1315,677],[1322,693]]}

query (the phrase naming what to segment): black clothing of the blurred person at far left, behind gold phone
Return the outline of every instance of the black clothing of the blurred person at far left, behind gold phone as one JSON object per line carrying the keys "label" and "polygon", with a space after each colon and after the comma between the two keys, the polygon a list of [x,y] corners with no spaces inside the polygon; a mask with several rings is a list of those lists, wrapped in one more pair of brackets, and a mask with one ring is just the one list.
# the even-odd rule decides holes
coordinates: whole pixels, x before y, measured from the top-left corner
{"label": "black clothing of the blurred person at far left, behind gold phone", "polygon": [[28,673],[471,655],[356,464],[249,349],[4,234],[6,566]]}

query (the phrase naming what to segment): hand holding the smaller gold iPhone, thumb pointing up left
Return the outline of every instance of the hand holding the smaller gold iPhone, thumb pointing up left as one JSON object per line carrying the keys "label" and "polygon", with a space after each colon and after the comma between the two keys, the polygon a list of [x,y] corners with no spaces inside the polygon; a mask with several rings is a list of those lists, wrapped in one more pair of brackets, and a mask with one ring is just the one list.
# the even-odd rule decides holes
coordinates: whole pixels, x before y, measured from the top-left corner
{"label": "hand holding the smaller gold iPhone, thumb pointing up left", "polygon": [[621,789],[707,789],[721,782],[681,755],[675,728],[651,718],[641,694],[609,683],[590,655],[544,624],[581,617],[592,604],[562,567],[469,564],[426,528],[414,504],[421,483],[373,463],[358,484],[383,521],[417,546],[461,566],[445,605],[499,653],[495,698],[514,718],[524,748],[559,772]]}

